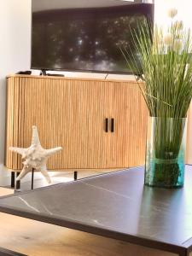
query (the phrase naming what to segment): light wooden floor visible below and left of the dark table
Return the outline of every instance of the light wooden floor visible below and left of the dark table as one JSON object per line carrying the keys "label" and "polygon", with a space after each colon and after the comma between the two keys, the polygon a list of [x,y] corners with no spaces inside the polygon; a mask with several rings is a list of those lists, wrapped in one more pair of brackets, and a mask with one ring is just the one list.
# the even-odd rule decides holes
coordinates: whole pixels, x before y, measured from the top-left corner
{"label": "light wooden floor visible below and left of the dark table", "polygon": [[[13,189],[0,188],[0,196]],[[0,212],[0,247],[29,256],[174,256],[174,253],[95,236]]]}

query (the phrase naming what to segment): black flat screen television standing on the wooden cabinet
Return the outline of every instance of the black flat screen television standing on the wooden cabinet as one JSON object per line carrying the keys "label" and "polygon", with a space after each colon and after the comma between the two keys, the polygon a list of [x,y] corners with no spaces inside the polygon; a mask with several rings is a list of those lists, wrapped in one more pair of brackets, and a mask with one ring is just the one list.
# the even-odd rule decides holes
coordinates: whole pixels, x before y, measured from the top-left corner
{"label": "black flat screen television standing on the wooden cabinet", "polygon": [[119,45],[131,49],[139,65],[131,29],[153,22],[153,15],[150,3],[32,0],[31,68],[131,73]]}

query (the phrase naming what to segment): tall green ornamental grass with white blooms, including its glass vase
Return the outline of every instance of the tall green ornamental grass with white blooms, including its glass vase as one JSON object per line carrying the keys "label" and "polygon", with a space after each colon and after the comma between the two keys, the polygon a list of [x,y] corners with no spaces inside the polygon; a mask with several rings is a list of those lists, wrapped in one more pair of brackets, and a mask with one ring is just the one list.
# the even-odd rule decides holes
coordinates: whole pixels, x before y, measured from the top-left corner
{"label": "tall green ornamental grass with white blooms, including its glass vase", "polygon": [[133,52],[128,54],[131,50],[121,51],[144,80],[138,86],[153,126],[148,130],[145,183],[176,188],[183,186],[183,134],[192,97],[192,38],[190,30],[176,20],[176,9],[169,16],[171,25],[166,32],[147,24],[137,33],[132,31],[141,65]]}

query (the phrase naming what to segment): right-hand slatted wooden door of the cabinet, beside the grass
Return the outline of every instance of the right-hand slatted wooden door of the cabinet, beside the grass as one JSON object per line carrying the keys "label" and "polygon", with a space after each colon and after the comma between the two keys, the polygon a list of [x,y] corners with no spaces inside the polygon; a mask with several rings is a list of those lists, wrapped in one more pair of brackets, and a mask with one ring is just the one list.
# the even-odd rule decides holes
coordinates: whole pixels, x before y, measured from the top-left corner
{"label": "right-hand slatted wooden door of the cabinet, beside the grass", "polygon": [[112,166],[144,164],[148,110],[137,83],[113,83],[110,119]]}

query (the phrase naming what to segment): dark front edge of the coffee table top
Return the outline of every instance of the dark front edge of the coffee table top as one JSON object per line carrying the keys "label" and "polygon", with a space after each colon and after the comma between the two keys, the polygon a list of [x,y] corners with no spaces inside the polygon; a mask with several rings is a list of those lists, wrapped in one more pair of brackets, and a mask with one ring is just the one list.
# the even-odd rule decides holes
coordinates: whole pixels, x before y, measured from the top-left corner
{"label": "dark front edge of the coffee table top", "polygon": [[65,227],[73,230],[79,230],[79,231],[87,232],[97,236],[104,236],[104,237],[113,238],[119,241],[126,241],[126,242],[137,244],[143,247],[151,247],[154,249],[159,249],[161,251],[178,253],[179,255],[187,255],[187,253],[192,250],[192,243],[185,244],[185,242],[183,242],[183,244],[177,245],[177,244],[166,243],[165,241],[154,241],[149,237],[134,236],[131,234],[125,234],[118,231],[107,230],[101,227],[91,226],[89,224],[83,224],[83,223],[80,223],[79,221],[74,221],[67,218],[65,219],[58,218],[54,215],[49,216],[48,214],[45,214],[45,213],[44,213],[44,216],[42,216],[34,212],[26,212],[26,211],[23,212],[20,209],[2,206],[1,204],[0,204],[0,212],[19,216],[21,218],[29,218],[29,219],[33,219],[33,220],[48,223],[48,224],[55,224],[61,227]]}

